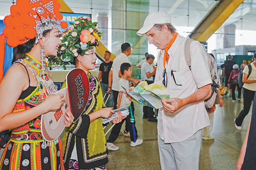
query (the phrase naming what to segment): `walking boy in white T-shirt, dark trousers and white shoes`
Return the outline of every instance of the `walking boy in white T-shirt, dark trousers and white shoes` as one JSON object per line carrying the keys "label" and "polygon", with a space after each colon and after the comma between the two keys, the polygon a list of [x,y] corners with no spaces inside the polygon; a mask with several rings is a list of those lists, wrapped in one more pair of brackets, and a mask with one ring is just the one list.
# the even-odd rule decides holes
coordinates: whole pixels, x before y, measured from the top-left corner
{"label": "walking boy in white T-shirt, dark trousers and white shoes", "polygon": [[[135,118],[134,114],[131,109],[131,101],[125,97],[124,87],[125,89],[129,89],[129,77],[132,75],[131,65],[129,63],[122,63],[120,66],[120,71],[122,73],[122,78],[119,81],[119,93],[118,93],[118,100],[117,100],[117,109],[122,107],[129,107],[130,114],[127,116],[127,122],[129,122],[129,132],[130,132],[130,139],[131,139],[131,146],[138,146],[140,145],[143,140],[138,139],[138,133],[137,129],[135,127]],[[115,126],[115,130],[111,131],[111,134],[109,135],[107,148],[108,150],[118,150],[118,146],[115,146],[113,142],[115,142],[116,138],[118,137],[118,134],[121,130],[122,124],[124,123],[124,120],[122,120],[120,123],[117,123]],[[114,128],[113,128],[114,129]]]}

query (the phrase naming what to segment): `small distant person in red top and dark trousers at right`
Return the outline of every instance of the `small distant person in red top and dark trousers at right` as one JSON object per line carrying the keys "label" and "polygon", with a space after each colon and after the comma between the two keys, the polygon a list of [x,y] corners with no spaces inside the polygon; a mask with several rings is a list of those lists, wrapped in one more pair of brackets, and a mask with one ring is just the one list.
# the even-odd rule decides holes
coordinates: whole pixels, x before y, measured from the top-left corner
{"label": "small distant person in red top and dark trousers at right", "polygon": [[233,65],[234,70],[230,73],[229,79],[228,79],[228,86],[230,86],[230,89],[232,91],[232,102],[236,102],[236,86],[238,91],[238,102],[241,101],[241,91],[242,89],[238,85],[238,75],[241,72],[239,70],[239,65]]}

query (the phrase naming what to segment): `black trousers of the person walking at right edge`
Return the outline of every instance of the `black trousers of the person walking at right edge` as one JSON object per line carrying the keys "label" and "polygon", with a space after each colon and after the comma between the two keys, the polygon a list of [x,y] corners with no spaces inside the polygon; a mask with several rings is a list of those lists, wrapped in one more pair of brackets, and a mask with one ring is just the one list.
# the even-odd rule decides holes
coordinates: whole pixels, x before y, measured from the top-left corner
{"label": "black trousers of the person walking at right edge", "polygon": [[240,112],[239,116],[236,118],[237,126],[240,127],[242,125],[245,116],[250,111],[250,107],[251,107],[254,95],[255,95],[255,91],[243,88],[244,108]]}

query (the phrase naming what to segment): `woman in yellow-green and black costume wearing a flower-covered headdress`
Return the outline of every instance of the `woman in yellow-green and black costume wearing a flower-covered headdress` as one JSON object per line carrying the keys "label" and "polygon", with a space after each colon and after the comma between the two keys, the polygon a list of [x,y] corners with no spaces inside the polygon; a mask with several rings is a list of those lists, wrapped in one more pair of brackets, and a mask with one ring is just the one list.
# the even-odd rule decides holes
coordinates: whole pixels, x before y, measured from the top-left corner
{"label": "woman in yellow-green and black costume wearing a flower-covered headdress", "polygon": [[[106,169],[108,151],[102,118],[111,117],[113,111],[112,108],[102,109],[105,106],[99,80],[89,72],[95,68],[94,46],[99,45],[101,33],[97,22],[92,22],[90,17],[79,17],[70,28],[72,30],[63,36],[61,59],[83,68],[90,82],[90,95],[79,120],[65,128],[62,140],[65,169]],[[120,112],[118,114],[113,123],[122,121]]]}

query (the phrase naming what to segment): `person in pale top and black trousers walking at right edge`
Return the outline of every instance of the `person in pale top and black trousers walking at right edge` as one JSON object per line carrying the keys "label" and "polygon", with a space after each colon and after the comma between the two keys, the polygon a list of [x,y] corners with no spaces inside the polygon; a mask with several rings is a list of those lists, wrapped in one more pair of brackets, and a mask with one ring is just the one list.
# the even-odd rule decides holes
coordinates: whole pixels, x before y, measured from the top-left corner
{"label": "person in pale top and black trousers walking at right edge", "polygon": [[243,110],[239,113],[239,116],[235,118],[235,126],[237,130],[242,130],[242,123],[245,116],[250,111],[250,107],[253,101],[256,90],[256,53],[253,56],[253,62],[250,63],[252,66],[252,73],[249,74],[248,66],[245,66],[243,70],[243,98],[244,98],[244,107]]}

